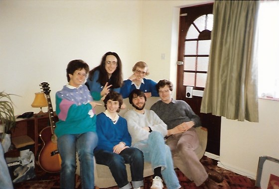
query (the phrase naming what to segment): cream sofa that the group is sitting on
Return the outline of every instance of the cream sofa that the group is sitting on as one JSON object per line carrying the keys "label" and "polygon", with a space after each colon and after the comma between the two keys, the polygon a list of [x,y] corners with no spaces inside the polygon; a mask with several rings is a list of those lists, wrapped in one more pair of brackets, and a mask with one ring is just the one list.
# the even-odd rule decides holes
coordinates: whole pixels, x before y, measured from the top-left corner
{"label": "cream sofa that the group is sitting on", "polygon": [[[155,103],[157,100],[159,100],[159,97],[150,97],[147,98],[146,100],[146,104],[145,104],[145,108],[146,109],[150,109],[151,105],[153,103]],[[99,103],[103,103],[103,101],[98,101]],[[129,103],[129,98],[125,98],[124,99],[124,103],[126,104],[126,108],[122,109],[119,112],[120,116],[123,116],[125,114],[126,111],[133,109],[132,105]],[[100,112],[104,112],[105,111],[105,107],[104,106],[97,106],[96,107],[96,113],[100,113]],[[199,135],[199,139],[200,139],[200,147],[195,150],[196,154],[198,155],[199,159],[202,158],[202,156],[205,153],[205,149],[206,149],[206,144],[207,144],[207,130],[204,127],[198,127],[197,128],[197,133]],[[175,162],[174,162],[175,165]],[[76,170],[76,175],[80,175],[80,165],[79,165],[79,161],[77,158],[77,170]],[[127,169],[127,174],[128,174],[128,180],[131,181],[131,172],[130,172],[130,165],[126,164],[126,169]],[[117,186],[115,180],[113,179],[113,176],[111,174],[110,169],[107,166],[104,165],[99,165],[96,164],[96,161],[94,159],[94,174],[95,174],[95,189],[99,189],[99,188],[110,188],[113,186]],[[143,171],[143,177],[148,177],[150,175],[153,175],[153,170],[151,168],[151,164],[150,163],[144,163],[144,171]]]}

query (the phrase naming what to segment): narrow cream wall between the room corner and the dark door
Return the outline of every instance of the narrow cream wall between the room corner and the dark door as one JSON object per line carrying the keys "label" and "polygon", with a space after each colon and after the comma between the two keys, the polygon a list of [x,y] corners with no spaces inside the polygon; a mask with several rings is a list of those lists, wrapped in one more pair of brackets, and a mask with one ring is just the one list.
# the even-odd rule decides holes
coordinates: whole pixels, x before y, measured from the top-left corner
{"label": "narrow cream wall between the room corner and the dark door", "polygon": [[209,2],[213,0],[143,0],[142,57],[154,81],[167,79],[176,85],[180,8]]}

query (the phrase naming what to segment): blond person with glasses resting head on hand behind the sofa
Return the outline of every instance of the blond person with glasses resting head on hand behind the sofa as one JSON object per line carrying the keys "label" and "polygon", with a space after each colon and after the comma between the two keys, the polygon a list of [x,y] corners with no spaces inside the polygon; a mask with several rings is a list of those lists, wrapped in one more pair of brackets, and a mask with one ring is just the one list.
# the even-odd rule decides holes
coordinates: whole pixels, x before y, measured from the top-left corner
{"label": "blond person with glasses resting head on hand behind the sofa", "polygon": [[155,87],[157,83],[153,80],[145,79],[145,76],[149,75],[148,66],[145,62],[137,62],[132,71],[133,75],[124,81],[124,85],[121,88],[120,93],[123,98],[127,98],[135,89],[142,91],[147,98],[159,96]]}

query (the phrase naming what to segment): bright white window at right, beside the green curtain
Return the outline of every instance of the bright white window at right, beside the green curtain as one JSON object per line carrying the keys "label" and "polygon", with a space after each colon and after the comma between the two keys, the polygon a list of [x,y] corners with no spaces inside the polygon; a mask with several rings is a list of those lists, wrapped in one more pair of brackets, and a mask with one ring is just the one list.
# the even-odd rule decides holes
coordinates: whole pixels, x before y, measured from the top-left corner
{"label": "bright white window at right, beside the green curtain", "polygon": [[258,17],[259,97],[279,99],[279,1],[261,1]]}

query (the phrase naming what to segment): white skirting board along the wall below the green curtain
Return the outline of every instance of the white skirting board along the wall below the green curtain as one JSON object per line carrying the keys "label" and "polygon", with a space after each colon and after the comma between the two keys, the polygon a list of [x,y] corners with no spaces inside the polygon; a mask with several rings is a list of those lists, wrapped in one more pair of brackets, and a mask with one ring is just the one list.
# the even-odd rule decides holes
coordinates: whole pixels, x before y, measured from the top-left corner
{"label": "white skirting board along the wall below the green curtain", "polygon": [[232,171],[232,172],[237,173],[239,175],[242,175],[242,176],[245,176],[245,177],[248,177],[248,178],[256,180],[256,175],[254,175],[253,173],[248,173],[245,170],[241,171],[240,169],[237,169],[237,168],[235,168],[235,167],[233,167],[231,165],[221,163],[220,156],[218,156],[218,155],[211,154],[209,152],[205,152],[204,155],[209,157],[209,158],[211,158],[211,159],[213,159],[213,160],[219,160],[218,163],[217,163],[218,167],[221,167],[221,168],[226,169],[228,171]]}

